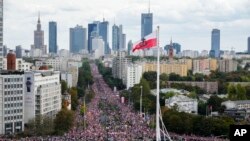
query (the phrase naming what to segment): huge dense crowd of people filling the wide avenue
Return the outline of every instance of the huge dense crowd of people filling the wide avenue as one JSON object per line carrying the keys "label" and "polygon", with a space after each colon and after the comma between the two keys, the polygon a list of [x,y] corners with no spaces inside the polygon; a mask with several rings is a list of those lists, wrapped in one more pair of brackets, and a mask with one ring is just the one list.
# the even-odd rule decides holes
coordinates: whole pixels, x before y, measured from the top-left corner
{"label": "huge dense crowd of people filling the wide avenue", "polygon": [[[99,74],[97,66],[91,64],[95,97],[81,114],[83,100],[79,100],[74,127],[62,136],[29,137],[21,141],[133,141],[155,140],[155,129],[151,129],[142,116],[120,101],[118,92],[113,91]],[[170,133],[173,140],[220,141],[214,137],[197,137]],[[0,139],[7,140],[7,139]]]}

